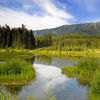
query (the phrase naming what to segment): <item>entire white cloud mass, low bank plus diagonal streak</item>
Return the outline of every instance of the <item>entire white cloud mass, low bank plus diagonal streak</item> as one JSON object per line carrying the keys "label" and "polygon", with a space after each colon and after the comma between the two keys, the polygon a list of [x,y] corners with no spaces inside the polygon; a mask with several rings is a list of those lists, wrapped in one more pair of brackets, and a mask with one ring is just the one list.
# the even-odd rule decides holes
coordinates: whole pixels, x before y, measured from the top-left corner
{"label": "entire white cloud mass, low bank plus diagonal streak", "polygon": [[[69,13],[57,8],[52,0],[32,1],[43,10],[43,16],[36,14],[29,15],[25,12],[0,7],[0,24],[8,24],[11,27],[19,27],[21,24],[25,24],[29,29],[39,30],[70,24],[69,20],[74,19],[74,17]],[[24,9],[28,9],[30,7],[32,6],[24,5]]]}

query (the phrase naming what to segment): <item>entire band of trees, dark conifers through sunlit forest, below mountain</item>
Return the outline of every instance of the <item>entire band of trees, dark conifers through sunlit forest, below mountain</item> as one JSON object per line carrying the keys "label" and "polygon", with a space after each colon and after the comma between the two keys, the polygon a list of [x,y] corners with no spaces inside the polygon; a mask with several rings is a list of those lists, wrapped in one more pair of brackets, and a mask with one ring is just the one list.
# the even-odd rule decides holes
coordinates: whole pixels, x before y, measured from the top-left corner
{"label": "entire band of trees, dark conifers through sunlit forest, below mountain", "polygon": [[51,34],[34,37],[33,31],[22,24],[19,28],[0,26],[0,48],[34,49],[49,47],[49,50],[84,51],[100,49],[99,35],[69,34],[53,36]]}

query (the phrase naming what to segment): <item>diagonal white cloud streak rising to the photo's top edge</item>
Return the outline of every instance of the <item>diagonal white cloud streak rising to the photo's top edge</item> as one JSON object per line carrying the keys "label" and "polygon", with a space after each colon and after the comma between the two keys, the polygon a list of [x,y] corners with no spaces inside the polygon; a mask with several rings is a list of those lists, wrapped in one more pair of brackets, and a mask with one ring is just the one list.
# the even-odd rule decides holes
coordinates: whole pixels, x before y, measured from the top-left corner
{"label": "diagonal white cloud streak rising to the photo's top edge", "polygon": [[66,18],[66,19],[73,18],[70,14],[66,13],[64,10],[57,8],[53,4],[53,0],[35,0],[35,2],[42,9],[44,9],[48,14],[51,14],[54,17],[60,17],[60,18]]}

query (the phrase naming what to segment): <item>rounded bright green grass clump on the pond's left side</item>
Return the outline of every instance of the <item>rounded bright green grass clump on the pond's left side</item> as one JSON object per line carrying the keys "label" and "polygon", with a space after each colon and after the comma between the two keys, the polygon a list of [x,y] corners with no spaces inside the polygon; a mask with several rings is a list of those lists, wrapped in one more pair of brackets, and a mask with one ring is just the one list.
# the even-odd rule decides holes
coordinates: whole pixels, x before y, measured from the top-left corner
{"label": "rounded bright green grass clump on the pond's left side", "polygon": [[0,81],[30,81],[35,76],[35,69],[25,60],[11,59],[0,64]]}

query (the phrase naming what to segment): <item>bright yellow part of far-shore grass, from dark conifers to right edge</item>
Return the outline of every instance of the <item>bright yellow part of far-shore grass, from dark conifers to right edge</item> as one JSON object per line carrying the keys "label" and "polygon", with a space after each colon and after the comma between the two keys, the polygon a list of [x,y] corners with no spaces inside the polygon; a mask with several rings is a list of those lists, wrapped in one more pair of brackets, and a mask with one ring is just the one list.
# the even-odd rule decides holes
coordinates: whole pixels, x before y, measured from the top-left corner
{"label": "bright yellow part of far-shore grass, from dark conifers to right edge", "polygon": [[95,51],[48,51],[44,48],[30,50],[35,55],[51,55],[51,56],[72,56],[72,57],[100,57],[100,50]]}

